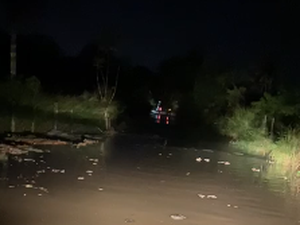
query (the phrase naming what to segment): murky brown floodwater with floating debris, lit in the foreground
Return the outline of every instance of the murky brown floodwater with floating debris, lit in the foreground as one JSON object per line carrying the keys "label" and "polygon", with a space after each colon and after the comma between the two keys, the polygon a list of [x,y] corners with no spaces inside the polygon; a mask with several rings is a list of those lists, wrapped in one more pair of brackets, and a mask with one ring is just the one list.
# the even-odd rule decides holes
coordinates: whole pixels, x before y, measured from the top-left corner
{"label": "murky brown floodwater with floating debris, lit in the foreground", "polygon": [[10,160],[1,170],[0,224],[299,224],[297,198],[284,177],[264,177],[263,160],[164,144],[119,135]]}

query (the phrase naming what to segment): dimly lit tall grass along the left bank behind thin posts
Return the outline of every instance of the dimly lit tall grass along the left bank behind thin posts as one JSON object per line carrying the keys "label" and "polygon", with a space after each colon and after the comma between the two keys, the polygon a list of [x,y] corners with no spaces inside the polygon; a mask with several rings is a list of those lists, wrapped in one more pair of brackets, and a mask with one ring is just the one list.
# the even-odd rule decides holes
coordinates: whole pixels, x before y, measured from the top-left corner
{"label": "dimly lit tall grass along the left bank behind thin posts", "polygon": [[37,130],[49,130],[54,120],[60,127],[71,124],[86,124],[104,128],[104,112],[115,119],[120,113],[116,102],[107,105],[96,93],[85,92],[80,96],[50,95],[40,90],[39,82],[29,78],[0,83],[1,131],[9,130],[13,111],[18,131],[30,130],[32,121]]}

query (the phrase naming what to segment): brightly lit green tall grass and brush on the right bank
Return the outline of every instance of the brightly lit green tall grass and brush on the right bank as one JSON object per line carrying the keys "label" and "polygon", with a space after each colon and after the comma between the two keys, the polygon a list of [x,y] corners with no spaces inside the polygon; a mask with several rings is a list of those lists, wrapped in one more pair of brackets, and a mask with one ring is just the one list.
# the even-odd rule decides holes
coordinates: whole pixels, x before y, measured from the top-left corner
{"label": "brightly lit green tall grass and brush on the right bank", "polygon": [[251,108],[237,108],[232,115],[220,120],[219,127],[223,135],[232,138],[231,144],[239,150],[268,156],[280,165],[284,173],[300,170],[300,129],[286,129],[273,139],[263,120]]}

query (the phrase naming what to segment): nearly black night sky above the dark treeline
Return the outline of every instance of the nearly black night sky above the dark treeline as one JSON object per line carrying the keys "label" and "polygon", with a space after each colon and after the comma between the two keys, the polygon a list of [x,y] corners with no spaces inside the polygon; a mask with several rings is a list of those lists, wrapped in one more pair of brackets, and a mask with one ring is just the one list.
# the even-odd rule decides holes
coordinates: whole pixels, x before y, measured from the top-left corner
{"label": "nearly black night sky above the dark treeline", "polygon": [[[151,67],[191,48],[236,63],[265,54],[290,61],[298,52],[298,5],[288,0],[52,0],[40,3],[39,13],[30,13],[26,30],[51,35],[67,54],[76,55],[110,28],[120,34],[120,54]],[[4,7],[0,10],[3,25],[7,17]]]}

